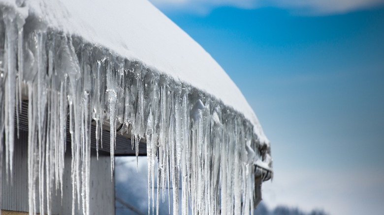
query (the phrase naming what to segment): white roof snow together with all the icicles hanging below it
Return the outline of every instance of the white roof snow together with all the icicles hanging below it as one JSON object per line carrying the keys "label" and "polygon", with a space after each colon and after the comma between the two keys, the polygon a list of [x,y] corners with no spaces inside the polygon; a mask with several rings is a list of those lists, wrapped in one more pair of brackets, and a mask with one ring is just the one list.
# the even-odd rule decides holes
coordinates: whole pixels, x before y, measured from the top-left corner
{"label": "white roof snow together with all the icicles hanging below it", "polygon": [[75,207],[89,214],[92,120],[100,141],[103,123],[109,124],[112,170],[117,132],[131,135],[136,156],[146,140],[152,206],[155,187],[158,201],[160,189],[164,197],[172,187],[173,214],[179,214],[180,195],[182,215],[187,205],[193,214],[249,213],[254,164],[271,169],[269,141],[223,69],[152,4],[1,4],[7,6],[0,21],[0,132],[12,171],[13,110],[18,125],[18,107],[28,95],[30,214],[46,209],[50,215],[49,200],[62,189],[67,121],[72,214]]}

